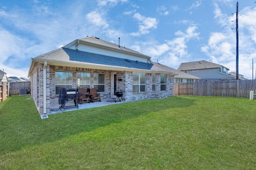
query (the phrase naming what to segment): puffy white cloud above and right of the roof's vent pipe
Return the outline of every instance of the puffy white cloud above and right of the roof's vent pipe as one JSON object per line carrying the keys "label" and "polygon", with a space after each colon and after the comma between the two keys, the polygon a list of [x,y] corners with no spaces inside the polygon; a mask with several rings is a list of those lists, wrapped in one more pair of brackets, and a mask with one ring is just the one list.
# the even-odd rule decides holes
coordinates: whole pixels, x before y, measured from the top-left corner
{"label": "puffy white cloud above and right of the roof's vent pipe", "polygon": [[156,18],[150,18],[140,15],[139,13],[134,14],[134,19],[139,21],[139,30],[136,33],[131,33],[132,36],[140,36],[144,34],[148,34],[150,29],[156,29],[158,21]]}

